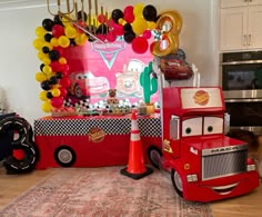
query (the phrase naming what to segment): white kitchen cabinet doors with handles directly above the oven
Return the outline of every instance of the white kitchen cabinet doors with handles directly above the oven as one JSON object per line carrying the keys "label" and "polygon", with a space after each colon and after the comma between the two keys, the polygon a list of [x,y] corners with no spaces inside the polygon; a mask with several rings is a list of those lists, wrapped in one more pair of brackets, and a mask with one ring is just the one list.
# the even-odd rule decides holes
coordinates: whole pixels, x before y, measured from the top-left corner
{"label": "white kitchen cabinet doors with handles directly above the oven", "polygon": [[262,6],[221,9],[220,49],[262,49]]}

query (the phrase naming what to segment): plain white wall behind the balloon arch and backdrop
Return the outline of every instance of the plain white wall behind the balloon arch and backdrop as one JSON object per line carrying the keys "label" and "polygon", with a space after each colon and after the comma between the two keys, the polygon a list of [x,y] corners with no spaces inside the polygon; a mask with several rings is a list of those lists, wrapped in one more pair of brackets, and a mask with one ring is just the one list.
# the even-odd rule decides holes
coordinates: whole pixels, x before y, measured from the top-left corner
{"label": "plain white wall behind the balloon arch and backdrop", "polygon": [[[32,46],[36,28],[41,26],[44,18],[51,18],[43,2],[46,1],[28,0],[27,3],[24,1],[0,3],[0,88],[7,99],[6,106],[31,124],[33,119],[47,115],[41,110],[41,101],[38,97],[41,88],[34,79],[41,62]],[[104,0],[99,2],[102,2],[104,10],[109,11],[117,8],[124,9],[125,6],[134,6],[138,2],[144,4],[150,2],[159,13],[164,10],[178,10],[183,18],[180,48],[185,51],[187,61],[196,65],[201,71],[202,85],[218,85],[216,46],[213,34],[215,30],[213,6],[216,0]],[[20,6],[24,8],[17,9]],[[30,8],[31,6],[38,7]]]}

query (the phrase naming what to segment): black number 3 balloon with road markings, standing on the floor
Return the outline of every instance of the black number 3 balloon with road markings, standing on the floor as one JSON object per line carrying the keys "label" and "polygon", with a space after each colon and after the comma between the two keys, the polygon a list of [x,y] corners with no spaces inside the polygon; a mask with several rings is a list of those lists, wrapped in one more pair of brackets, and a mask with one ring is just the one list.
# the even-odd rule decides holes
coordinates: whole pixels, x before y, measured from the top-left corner
{"label": "black number 3 balloon with road markings, standing on the floor", "polygon": [[[12,139],[9,156],[4,156],[3,165],[8,174],[30,172],[39,159],[39,151],[33,142],[31,125],[21,117],[8,117],[0,121],[0,132],[18,132],[18,138]],[[21,149],[24,152],[22,159],[13,156],[13,150]]]}

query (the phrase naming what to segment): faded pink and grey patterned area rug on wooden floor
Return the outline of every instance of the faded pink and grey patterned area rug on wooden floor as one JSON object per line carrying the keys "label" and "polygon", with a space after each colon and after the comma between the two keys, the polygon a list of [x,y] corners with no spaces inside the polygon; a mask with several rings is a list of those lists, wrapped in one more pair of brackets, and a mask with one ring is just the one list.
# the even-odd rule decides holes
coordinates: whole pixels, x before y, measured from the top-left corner
{"label": "faded pink and grey patterned area rug on wooden floor", "polygon": [[212,217],[181,199],[161,170],[134,180],[121,167],[58,168],[0,210],[1,217]]}

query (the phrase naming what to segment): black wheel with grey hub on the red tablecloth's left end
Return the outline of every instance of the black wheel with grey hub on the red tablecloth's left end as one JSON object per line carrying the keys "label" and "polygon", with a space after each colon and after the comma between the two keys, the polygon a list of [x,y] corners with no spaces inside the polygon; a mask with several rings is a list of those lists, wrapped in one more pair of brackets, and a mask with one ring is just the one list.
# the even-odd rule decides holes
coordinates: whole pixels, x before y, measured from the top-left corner
{"label": "black wheel with grey hub on the red tablecloth's left end", "polygon": [[61,166],[61,167],[71,167],[77,155],[72,148],[69,146],[60,146],[56,149],[54,154],[54,159]]}

